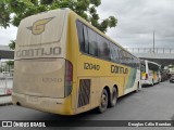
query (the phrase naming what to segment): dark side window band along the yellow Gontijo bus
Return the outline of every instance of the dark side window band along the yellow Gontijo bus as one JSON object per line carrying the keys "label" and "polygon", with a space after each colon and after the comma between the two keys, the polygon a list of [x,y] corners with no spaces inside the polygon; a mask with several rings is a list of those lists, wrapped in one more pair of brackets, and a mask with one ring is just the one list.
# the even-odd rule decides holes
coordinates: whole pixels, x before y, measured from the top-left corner
{"label": "dark side window band along the yellow Gontijo bus", "polygon": [[76,23],[80,51],[103,60],[139,68],[139,60],[100,36],[82,22]]}

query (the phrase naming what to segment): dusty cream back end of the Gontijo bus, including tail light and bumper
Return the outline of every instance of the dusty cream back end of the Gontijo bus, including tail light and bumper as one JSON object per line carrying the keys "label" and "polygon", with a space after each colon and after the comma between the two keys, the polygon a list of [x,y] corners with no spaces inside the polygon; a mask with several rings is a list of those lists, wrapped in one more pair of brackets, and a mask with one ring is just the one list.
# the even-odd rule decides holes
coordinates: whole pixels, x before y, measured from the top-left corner
{"label": "dusty cream back end of the Gontijo bus, including tail light and bumper", "polygon": [[17,31],[13,103],[72,115],[73,65],[66,60],[69,10],[23,20]]}

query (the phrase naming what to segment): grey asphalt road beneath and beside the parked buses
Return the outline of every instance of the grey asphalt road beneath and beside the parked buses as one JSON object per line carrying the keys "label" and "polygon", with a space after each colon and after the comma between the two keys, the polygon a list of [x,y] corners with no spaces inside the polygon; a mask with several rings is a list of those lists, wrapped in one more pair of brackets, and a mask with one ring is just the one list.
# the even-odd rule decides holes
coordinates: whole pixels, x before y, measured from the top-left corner
{"label": "grey asphalt road beneath and beside the parked buses", "polygon": [[173,99],[174,83],[165,81],[121,98],[117,105],[104,114],[88,112],[63,117],[10,105],[0,107],[0,120],[171,120],[174,117]]}

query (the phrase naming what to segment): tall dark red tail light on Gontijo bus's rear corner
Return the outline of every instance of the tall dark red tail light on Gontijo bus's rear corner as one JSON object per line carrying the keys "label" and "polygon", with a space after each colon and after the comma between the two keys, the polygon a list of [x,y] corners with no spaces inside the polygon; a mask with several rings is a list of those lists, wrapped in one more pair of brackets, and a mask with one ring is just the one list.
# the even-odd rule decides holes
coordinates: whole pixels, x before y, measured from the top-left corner
{"label": "tall dark red tail light on Gontijo bus's rear corner", "polygon": [[70,61],[65,61],[65,89],[64,89],[64,96],[69,96],[72,92],[73,86],[73,65]]}

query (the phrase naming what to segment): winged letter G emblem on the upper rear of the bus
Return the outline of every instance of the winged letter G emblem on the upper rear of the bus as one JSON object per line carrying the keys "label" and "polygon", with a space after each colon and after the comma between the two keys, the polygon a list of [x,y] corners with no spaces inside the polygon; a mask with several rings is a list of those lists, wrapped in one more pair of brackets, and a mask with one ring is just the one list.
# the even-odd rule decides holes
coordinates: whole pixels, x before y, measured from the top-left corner
{"label": "winged letter G emblem on the upper rear of the bus", "polygon": [[32,30],[34,35],[40,35],[45,31],[46,24],[49,23],[54,17],[44,18],[36,21],[33,26],[27,27],[27,29]]}

